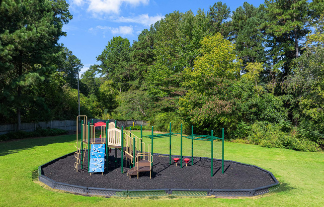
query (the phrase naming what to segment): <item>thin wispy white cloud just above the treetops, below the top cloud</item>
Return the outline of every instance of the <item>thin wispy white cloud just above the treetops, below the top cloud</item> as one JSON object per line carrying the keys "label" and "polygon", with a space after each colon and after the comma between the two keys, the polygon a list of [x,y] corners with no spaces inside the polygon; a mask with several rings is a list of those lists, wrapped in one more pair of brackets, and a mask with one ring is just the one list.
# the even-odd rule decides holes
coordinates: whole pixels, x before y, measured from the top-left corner
{"label": "thin wispy white cloud just above the treetops, below the top cloud", "polygon": [[161,20],[164,18],[161,14],[157,14],[156,16],[149,16],[149,14],[140,14],[138,16],[133,17],[118,17],[114,19],[115,22],[132,22],[132,23],[138,23],[143,24],[144,26],[151,26],[151,24],[154,24],[155,22]]}

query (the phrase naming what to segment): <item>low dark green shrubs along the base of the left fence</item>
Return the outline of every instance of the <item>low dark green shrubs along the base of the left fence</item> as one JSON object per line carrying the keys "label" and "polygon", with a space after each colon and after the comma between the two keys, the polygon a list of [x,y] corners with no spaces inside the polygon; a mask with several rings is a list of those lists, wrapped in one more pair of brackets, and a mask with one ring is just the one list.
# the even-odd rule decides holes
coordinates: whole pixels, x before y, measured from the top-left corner
{"label": "low dark green shrubs along the base of the left fence", "polygon": [[67,134],[68,131],[57,128],[36,128],[35,131],[16,131],[0,135],[0,141],[7,141],[12,139],[25,139],[29,137],[42,137],[42,136],[57,136]]}

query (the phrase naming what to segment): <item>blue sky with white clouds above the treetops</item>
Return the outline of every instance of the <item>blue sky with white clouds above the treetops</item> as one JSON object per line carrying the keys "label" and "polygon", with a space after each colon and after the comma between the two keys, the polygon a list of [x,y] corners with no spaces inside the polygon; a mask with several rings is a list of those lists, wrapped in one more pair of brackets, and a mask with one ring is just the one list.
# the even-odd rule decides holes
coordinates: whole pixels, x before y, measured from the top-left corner
{"label": "blue sky with white clouds above the treetops", "polygon": [[[245,0],[246,1],[246,0]],[[113,36],[122,36],[129,41],[137,40],[145,28],[175,10],[194,13],[199,9],[209,10],[215,0],[67,0],[73,19],[64,25],[66,37],[60,43],[68,47],[83,63],[81,73],[96,64]],[[223,0],[231,10],[242,6],[244,0]],[[264,0],[247,0],[258,6]]]}

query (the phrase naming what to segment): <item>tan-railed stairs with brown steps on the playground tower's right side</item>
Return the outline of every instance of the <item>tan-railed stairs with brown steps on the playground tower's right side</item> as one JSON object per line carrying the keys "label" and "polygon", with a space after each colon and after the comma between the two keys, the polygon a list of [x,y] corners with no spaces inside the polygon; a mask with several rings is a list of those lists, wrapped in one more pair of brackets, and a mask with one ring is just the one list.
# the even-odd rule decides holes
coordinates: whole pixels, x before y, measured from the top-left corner
{"label": "tan-railed stairs with brown steps on the playground tower's right side", "polygon": [[[125,138],[125,155],[126,160],[129,159],[133,164],[133,167],[127,171],[127,175],[129,175],[129,179],[131,179],[132,175],[137,175],[137,179],[139,177],[139,172],[152,172],[152,162],[153,156],[151,152],[145,152],[145,143],[142,142],[142,139],[131,133],[130,131],[126,131],[124,133]],[[148,145],[148,151],[151,149],[151,144]],[[143,152],[144,151],[144,152]]]}

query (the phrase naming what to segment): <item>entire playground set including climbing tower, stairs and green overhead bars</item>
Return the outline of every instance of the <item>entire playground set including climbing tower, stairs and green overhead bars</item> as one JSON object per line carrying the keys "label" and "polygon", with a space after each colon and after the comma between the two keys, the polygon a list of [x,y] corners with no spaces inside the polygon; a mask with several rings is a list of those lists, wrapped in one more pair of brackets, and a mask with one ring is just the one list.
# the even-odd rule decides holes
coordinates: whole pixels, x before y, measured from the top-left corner
{"label": "entire playground set including climbing tower, stairs and green overhead bars", "polygon": [[[132,175],[137,175],[139,178],[140,172],[150,172],[150,179],[152,177],[152,167],[153,167],[153,144],[154,139],[157,138],[169,138],[169,165],[171,165],[171,137],[180,135],[180,167],[182,168],[182,160],[185,162],[186,166],[190,161],[189,158],[183,159],[182,156],[182,139],[191,139],[191,165],[193,165],[193,140],[210,141],[211,142],[211,176],[213,177],[213,142],[214,140],[222,140],[222,173],[224,174],[224,128],[222,130],[222,138],[213,136],[213,130],[211,130],[211,135],[198,135],[193,133],[193,126],[191,126],[191,135],[184,136],[182,134],[182,124],[180,127],[180,133],[171,132],[171,123],[169,127],[169,133],[164,134],[154,134],[154,127],[152,126],[152,134],[143,136],[143,128],[141,125],[141,138],[137,137],[130,130],[118,129],[116,127],[116,121],[109,122],[109,120],[104,122],[90,123],[87,121],[86,116],[81,120],[81,139],[79,139],[79,134],[77,133],[77,141],[75,147],[77,151],[75,152],[75,168],[77,169],[81,164],[81,169],[83,169],[83,162],[85,158],[85,153],[87,151],[88,159],[88,172],[90,175],[92,173],[104,172],[104,166],[108,168],[108,157],[111,148],[115,148],[115,164],[117,162],[117,149],[121,150],[121,172],[123,172],[124,165],[124,155],[126,158],[126,164],[129,162],[130,169],[127,171],[127,175],[131,179]],[[78,131],[77,124],[77,131]],[[96,137],[95,128],[100,127],[100,135]],[[150,138],[151,144],[147,147],[143,142],[143,138]],[[105,159],[106,155],[106,159]],[[105,162],[106,160],[106,162]],[[177,164],[178,160],[174,160]]]}

